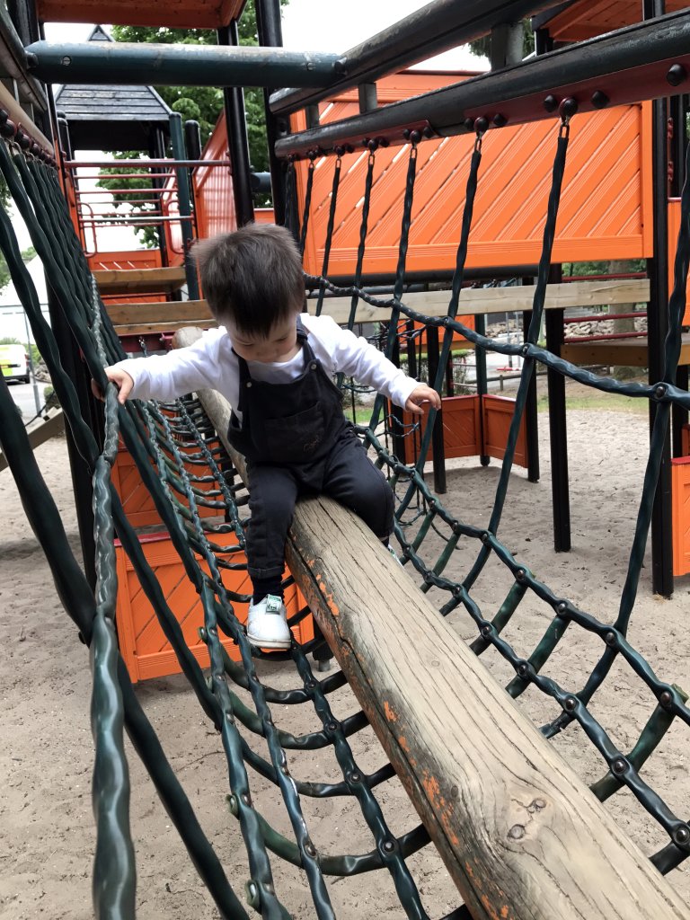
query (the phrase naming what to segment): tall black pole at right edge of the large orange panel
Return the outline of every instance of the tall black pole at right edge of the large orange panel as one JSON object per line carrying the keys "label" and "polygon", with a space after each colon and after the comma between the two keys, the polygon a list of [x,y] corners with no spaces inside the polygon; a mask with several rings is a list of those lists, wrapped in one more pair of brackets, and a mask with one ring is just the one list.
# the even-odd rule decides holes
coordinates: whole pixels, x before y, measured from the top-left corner
{"label": "tall black pole at right edge of the large orange panel", "polygon": [[[662,0],[644,0],[645,19],[663,13]],[[666,99],[652,103],[651,162],[653,258],[648,261],[650,304],[648,307],[648,342],[650,383],[657,383],[664,372],[664,340],[669,330],[669,235],[668,235],[668,105]],[[650,401],[650,424],[657,407]],[[671,434],[661,454],[659,483],[651,514],[651,583],[655,594],[673,594],[673,524],[671,495]]]}

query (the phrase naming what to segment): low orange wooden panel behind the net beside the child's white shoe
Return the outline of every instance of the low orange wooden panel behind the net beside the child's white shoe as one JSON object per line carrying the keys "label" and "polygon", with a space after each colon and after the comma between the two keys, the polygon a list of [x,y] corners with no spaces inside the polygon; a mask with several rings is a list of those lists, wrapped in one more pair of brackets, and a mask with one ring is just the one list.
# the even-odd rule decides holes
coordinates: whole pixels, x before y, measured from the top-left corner
{"label": "low orange wooden panel behind the net beside the child's white shoe", "polygon": [[[236,546],[234,534],[213,535],[213,542],[221,546]],[[185,574],[177,552],[167,534],[143,536],[142,549],[149,565],[154,569],[161,589],[173,614],[177,617],[190,650],[202,668],[209,667],[209,655],[205,643],[199,638],[199,628],[203,626],[201,601],[193,585]],[[132,563],[124,549],[116,542],[115,555],[118,574],[118,603],[116,623],[118,641],[122,658],[127,665],[132,683],[152,677],[163,677],[180,672],[175,652],[167,642],[154,609],[142,590]],[[201,569],[208,572],[205,562],[195,554]],[[228,554],[228,558],[230,558]],[[245,561],[243,553],[233,553],[234,562]],[[225,587],[237,593],[251,593],[251,582],[246,570],[222,570]],[[285,592],[285,604],[288,615],[292,616],[305,606],[305,599],[295,585]],[[233,603],[237,618],[247,620],[247,604]],[[229,638],[219,633],[221,642],[228,655],[239,660],[237,646]],[[296,627],[293,636],[298,642],[314,638],[314,626],[311,616],[307,616]]]}

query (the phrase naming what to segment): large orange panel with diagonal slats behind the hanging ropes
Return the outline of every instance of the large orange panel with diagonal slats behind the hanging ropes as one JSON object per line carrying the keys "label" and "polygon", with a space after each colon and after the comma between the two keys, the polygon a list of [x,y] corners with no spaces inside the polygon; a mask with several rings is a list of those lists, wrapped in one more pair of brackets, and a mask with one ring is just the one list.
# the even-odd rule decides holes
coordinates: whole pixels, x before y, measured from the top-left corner
{"label": "large orange panel with diagonal slats behind the hanging ropes", "polygon": [[[409,72],[377,83],[381,104],[428,92],[463,75]],[[357,94],[345,92],[320,106],[321,123],[356,114]],[[292,116],[305,127],[304,113]],[[557,120],[489,132],[467,266],[536,264],[558,136]],[[453,270],[465,204],[474,135],[424,141],[419,146],[408,271]],[[319,274],[324,257],[333,157],[316,159],[306,270]],[[328,274],[351,275],[362,217],[367,152],[343,156],[336,229]],[[392,273],[408,167],[408,147],[376,152],[365,273]],[[300,211],[307,165],[297,167]],[[650,104],[622,106],[573,119],[553,260],[635,259],[651,255]]]}

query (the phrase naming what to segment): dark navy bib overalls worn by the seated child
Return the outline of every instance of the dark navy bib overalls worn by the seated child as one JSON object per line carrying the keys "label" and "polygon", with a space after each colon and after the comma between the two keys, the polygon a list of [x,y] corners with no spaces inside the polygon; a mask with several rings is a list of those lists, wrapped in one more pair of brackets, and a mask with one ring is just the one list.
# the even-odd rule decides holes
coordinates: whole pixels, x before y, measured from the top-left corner
{"label": "dark navy bib overalls worn by the seated child", "polygon": [[343,415],[329,378],[297,320],[304,369],[294,380],[252,379],[239,362],[240,424],[230,417],[228,439],[247,458],[247,569],[252,581],[282,578],[285,539],[301,495],[328,495],[358,514],[376,536],[393,531],[393,493]]}

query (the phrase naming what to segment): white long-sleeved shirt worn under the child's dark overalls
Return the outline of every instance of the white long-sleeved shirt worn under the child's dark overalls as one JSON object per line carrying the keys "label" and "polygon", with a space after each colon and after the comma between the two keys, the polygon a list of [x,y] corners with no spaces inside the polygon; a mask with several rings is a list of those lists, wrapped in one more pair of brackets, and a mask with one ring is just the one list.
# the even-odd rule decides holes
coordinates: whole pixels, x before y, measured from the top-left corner
{"label": "white long-sleeved shirt worn under the child's dark overalls", "polygon": [[[348,329],[341,329],[330,316],[300,314],[300,319],[312,351],[327,374],[354,377],[357,383],[371,386],[397,406],[405,406],[418,382],[388,361],[374,345]],[[271,384],[288,383],[304,371],[301,350],[287,362],[247,363],[253,379]],[[169,400],[210,388],[227,399],[241,420],[237,411],[239,363],[223,326],[204,332],[201,339],[187,348],[148,358],[131,358],[116,366],[132,377],[131,397]]]}

